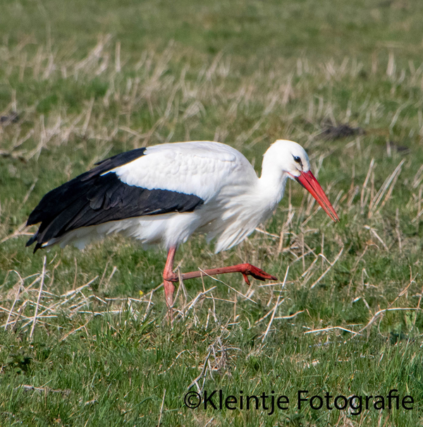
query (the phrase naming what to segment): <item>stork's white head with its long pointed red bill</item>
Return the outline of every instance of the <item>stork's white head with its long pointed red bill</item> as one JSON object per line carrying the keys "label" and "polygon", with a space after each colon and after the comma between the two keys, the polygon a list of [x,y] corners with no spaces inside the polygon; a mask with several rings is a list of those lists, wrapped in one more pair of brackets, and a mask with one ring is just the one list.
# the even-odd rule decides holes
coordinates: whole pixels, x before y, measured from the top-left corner
{"label": "stork's white head with its long pointed red bill", "polygon": [[295,179],[311,193],[317,200],[317,203],[321,205],[321,208],[324,209],[333,221],[339,221],[338,215],[336,215],[323,188],[321,188],[317,179],[314,178],[310,170],[307,152],[305,152],[300,144],[288,140],[277,140],[276,143],[271,145],[268,152],[274,159],[275,157],[277,158],[278,167],[281,167],[282,171],[290,179]]}

